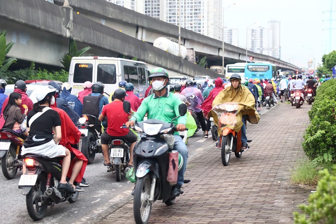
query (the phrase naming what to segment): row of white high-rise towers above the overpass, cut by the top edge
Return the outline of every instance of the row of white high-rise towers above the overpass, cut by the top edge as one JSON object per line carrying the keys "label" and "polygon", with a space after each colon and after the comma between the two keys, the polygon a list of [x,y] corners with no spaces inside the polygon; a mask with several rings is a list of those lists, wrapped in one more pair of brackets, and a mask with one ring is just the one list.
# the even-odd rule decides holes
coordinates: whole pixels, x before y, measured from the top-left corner
{"label": "row of white high-rise towers above the overpass, cut by the top edge", "polygon": [[222,0],[106,0],[139,13],[222,39]]}

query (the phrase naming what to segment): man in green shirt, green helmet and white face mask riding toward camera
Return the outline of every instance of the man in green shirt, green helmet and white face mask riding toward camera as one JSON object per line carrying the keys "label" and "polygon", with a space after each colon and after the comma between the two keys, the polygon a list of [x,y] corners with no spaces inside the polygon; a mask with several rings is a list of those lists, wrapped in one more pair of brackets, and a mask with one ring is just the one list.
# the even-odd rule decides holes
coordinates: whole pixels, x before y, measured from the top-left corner
{"label": "man in green shirt, green helmet and white face mask riding toward camera", "polygon": [[[133,117],[126,123],[126,126],[134,126],[136,121],[143,121],[146,113],[148,119],[158,119],[171,123],[173,118],[179,116],[180,98],[167,91],[169,85],[169,75],[163,68],[155,68],[151,71],[149,81],[152,82],[154,94],[145,98]],[[186,124],[186,115],[174,120],[177,131],[184,131]],[[184,182],[184,172],[187,166],[188,149],[183,143],[178,132],[174,133],[174,150],[177,150],[183,157],[183,167],[178,172],[177,184],[173,186],[172,195],[178,197],[181,192],[181,186]]]}

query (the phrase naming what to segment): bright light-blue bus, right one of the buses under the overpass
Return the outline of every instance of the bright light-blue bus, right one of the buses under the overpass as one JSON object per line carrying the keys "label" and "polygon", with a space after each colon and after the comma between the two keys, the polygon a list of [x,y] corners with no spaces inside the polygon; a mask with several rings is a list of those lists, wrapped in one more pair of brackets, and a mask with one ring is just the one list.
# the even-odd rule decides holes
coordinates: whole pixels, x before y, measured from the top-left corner
{"label": "bright light-blue bus, right one of the buses under the overpass", "polygon": [[248,63],[245,66],[245,78],[276,78],[276,66],[271,63]]}

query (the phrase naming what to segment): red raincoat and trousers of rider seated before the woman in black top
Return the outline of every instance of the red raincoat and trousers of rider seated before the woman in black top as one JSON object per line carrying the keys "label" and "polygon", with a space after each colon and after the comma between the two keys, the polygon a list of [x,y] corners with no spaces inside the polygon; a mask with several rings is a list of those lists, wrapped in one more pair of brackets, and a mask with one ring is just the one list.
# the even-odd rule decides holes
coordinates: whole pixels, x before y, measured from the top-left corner
{"label": "red raincoat and trousers of rider seated before the woman in black top", "polygon": [[[81,179],[84,176],[85,169],[86,169],[87,164],[88,164],[88,159],[79,150],[72,148],[71,144],[75,145],[79,142],[79,138],[80,138],[81,133],[78,130],[78,128],[73,124],[70,117],[67,115],[67,113],[65,113],[65,111],[63,109],[57,108],[55,106],[55,104],[50,105],[50,107],[53,110],[57,111],[57,113],[59,113],[60,118],[61,118],[62,139],[61,139],[60,145],[69,149],[70,152],[75,154],[75,156],[78,159],[83,160],[83,164],[81,166],[79,174],[77,175],[77,177],[75,179],[75,181],[77,183],[80,183]],[[69,172],[68,172],[68,175],[67,175],[69,178],[71,176],[74,164],[75,164],[75,162],[74,162],[74,160],[72,160],[71,163],[70,163],[70,168],[69,168]]]}

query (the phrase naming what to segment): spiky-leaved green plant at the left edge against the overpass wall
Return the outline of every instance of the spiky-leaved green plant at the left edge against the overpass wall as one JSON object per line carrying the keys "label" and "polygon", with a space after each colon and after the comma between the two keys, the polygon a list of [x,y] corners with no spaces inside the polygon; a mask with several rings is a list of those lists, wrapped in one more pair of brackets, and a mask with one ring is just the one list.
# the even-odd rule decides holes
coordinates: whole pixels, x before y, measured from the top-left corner
{"label": "spiky-leaved green plant at the left edge against the overpass wall", "polygon": [[7,54],[14,45],[13,42],[6,44],[6,33],[3,31],[0,33],[0,78],[7,79],[5,74],[9,66],[16,61],[16,58],[7,58]]}

